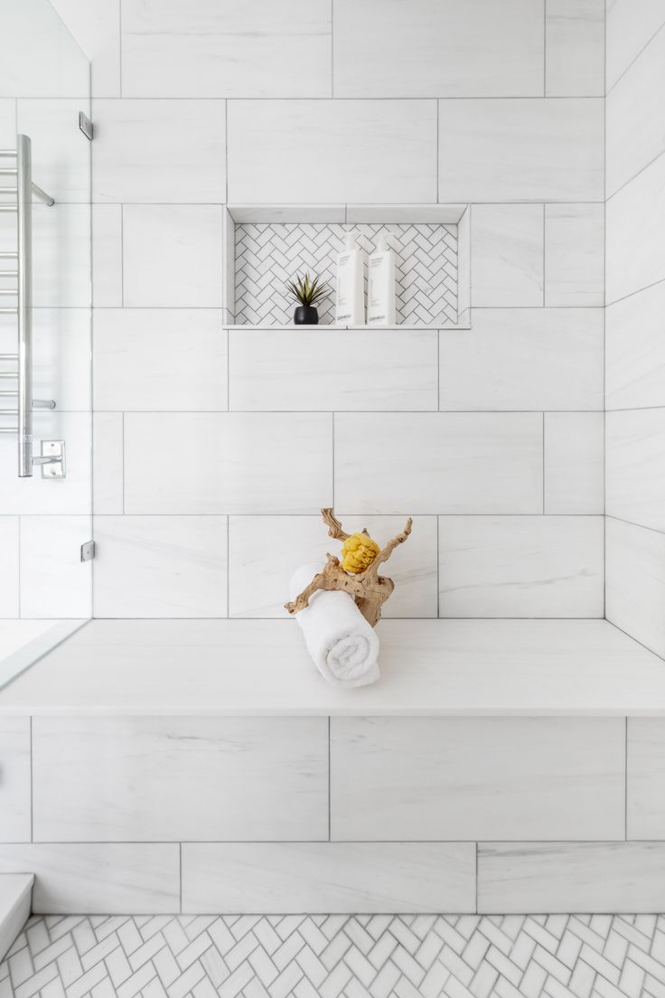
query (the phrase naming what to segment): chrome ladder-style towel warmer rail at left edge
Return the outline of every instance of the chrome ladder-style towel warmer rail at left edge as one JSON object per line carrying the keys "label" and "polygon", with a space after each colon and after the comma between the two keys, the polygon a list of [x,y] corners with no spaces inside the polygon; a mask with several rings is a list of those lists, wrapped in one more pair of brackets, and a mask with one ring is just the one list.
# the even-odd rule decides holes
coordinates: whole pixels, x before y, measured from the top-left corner
{"label": "chrome ladder-style towel warmer rail at left edge", "polygon": [[[0,385],[14,381],[10,388],[0,387],[0,396],[17,399],[16,408],[0,408],[0,415],[17,417],[16,426],[0,426],[0,433],[16,434],[18,438],[19,478],[32,477],[33,465],[49,468],[49,477],[62,477],[65,471],[63,441],[42,441],[42,454],[33,455],[33,409],[55,409],[53,399],[32,397],[32,198],[33,195],[51,207],[54,199],[32,180],[32,152],[27,135],[17,135],[16,150],[0,150],[0,159],[15,160],[16,165],[1,167],[0,176],[15,179],[15,185],[0,187],[0,194],[13,195],[13,202],[0,203],[0,212],[16,213],[16,251],[0,251],[0,260],[12,260],[14,266],[0,269],[0,277],[15,278],[15,287],[1,287],[0,295],[15,297],[16,305],[0,307],[0,314],[16,314],[18,322],[18,352],[0,353],[0,361],[16,364],[15,370],[0,371]],[[3,264],[4,265],[4,264]],[[55,446],[54,446],[55,445]],[[59,445],[59,446],[58,446]]]}

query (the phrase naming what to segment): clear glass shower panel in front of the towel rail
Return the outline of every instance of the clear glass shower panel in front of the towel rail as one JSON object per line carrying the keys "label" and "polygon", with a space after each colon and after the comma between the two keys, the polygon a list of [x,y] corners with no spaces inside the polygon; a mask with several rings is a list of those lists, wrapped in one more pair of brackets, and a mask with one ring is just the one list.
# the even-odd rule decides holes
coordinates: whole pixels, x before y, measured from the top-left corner
{"label": "clear glass shower panel in front of the towel rail", "polygon": [[92,613],[90,114],[48,0],[1,0],[0,686]]}

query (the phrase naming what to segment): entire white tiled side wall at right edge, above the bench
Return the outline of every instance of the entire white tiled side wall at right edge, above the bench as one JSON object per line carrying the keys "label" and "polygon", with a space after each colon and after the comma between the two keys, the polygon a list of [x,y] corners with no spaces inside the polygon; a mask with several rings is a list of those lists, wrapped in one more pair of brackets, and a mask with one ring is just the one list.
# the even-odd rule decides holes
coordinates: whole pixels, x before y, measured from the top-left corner
{"label": "entire white tiled side wall at right edge, above the bench", "polygon": [[663,656],[662,4],[608,6],[607,88],[607,617]]}

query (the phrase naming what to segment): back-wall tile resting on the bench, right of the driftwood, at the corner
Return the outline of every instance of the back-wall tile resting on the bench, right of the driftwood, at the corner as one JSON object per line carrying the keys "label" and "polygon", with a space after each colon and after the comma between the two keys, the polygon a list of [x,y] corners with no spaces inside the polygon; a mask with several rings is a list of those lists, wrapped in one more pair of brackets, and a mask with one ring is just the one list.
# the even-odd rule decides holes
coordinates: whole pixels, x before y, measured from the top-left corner
{"label": "back-wall tile resting on the bench, right of the driftwood, at the corner", "polygon": [[601,516],[439,521],[441,617],[602,617]]}

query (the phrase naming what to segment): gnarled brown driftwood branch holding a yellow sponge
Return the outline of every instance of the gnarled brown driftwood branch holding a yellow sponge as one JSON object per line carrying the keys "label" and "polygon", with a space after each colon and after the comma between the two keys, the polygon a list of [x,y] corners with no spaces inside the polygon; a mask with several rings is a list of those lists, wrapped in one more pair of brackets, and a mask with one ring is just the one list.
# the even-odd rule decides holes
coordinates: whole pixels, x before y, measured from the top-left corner
{"label": "gnarled brown driftwood branch holding a yellow sponge", "polygon": [[[348,540],[351,535],[347,534],[343,529],[342,524],[332,509],[322,509],[321,516],[323,517],[323,522],[328,527],[328,535],[330,537],[339,541]],[[348,572],[345,572],[338,558],[335,558],[334,555],[327,555],[327,561],[323,569],[314,576],[309,585],[303,589],[302,593],[295,600],[285,604],[288,612],[290,614],[297,614],[301,610],[304,610],[305,607],[309,606],[309,600],[314,593],[321,591],[343,592],[348,593],[349,596],[353,596],[365,620],[372,627],[375,627],[381,619],[383,604],[395,589],[395,583],[392,579],[379,575],[379,566],[387,562],[393,551],[401,544],[404,544],[411,533],[412,526],[413,520],[409,517],[404,530],[388,541],[365,571],[358,573],[358,575],[350,575]],[[367,530],[363,530],[363,533],[367,534]]]}

